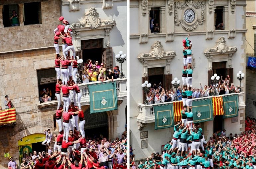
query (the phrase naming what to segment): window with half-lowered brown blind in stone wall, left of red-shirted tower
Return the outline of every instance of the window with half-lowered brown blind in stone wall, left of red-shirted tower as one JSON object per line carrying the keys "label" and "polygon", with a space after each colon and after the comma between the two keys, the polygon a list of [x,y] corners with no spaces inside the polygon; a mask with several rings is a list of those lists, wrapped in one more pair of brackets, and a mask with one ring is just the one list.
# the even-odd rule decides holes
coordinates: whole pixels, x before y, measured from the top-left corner
{"label": "window with half-lowered brown blind in stone wall, left of red-shirted tower", "polygon": [[[37,71],[38,80],[38,91],[39,91],[39,101],[42,103],[42,97],[47,94],[51,98],[50,100],[56,100],[55,98],[55,85],[56,85],[56,71],[54,68],[43,69]],[[48,88],[48,89],[47,89]],[[49,91],[49,92],[48,92]]]}

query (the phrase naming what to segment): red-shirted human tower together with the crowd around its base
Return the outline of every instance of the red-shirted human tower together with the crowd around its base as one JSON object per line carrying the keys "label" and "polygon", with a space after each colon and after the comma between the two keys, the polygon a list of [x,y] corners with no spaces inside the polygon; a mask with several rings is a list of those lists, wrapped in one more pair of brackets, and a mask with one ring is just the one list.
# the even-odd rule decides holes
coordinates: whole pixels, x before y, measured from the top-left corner
{"label": "red-shirted human tower together with the crowd around its base", "polygon": [[[115,169],[127,168],[124,162],[126,154],[123,153],[123,149],[126,148],[127,139],[122,141],[117,139],[113,143],[109,143],[104,138],[101,140],[101,144],[97,145],[95,141],[86,140],[85,138],[85,118],[80,104],[82,94],[75,77],[78,63],[82,63],[83,61],[78,56],[70,57],[70,50],[72,50],[73,55],[75,54],[72,44],[72,30],[69,28],[69,22],[64,17],[61,16],[59,20],[64,24],[58,25],[54,30],[54,47],[56,50],[55,70],[57,74],[55,96],[58,100],[56,122],[59,133],[53,136],[50,129],[45,130],[46,139],[42,142],[42,145],[48,147],[48,154],[44,153],[43,156],[45,157],[38,159],[39,161],[32,161],[35,166],[34,168],[61,169],[65,167],[65,164],[67,164],[66,167],[70,166],[76,169],[81,169],[82,166],[83,168],[98,169],[104,169],[105,167]],[[62,38],[62,57],[59,55],[58,40],[60,38]],[[63,80],[60,79],[61,74]],[[73,91],[73,96],[71,96],[70,90]],[[63,106],[61,105],[61,91]],[[73,98],[74,102],[71,102],[71,98]],[[55,139],[54,152],[49,152],[51,150],[49,144],[52,137]],[[95,153],[95,151],[99,153]],[[70,162],[70,159],[74,160]],[[111,166],[109,162],[112,162]],[[29,168],[29,164],[25,168]]]}

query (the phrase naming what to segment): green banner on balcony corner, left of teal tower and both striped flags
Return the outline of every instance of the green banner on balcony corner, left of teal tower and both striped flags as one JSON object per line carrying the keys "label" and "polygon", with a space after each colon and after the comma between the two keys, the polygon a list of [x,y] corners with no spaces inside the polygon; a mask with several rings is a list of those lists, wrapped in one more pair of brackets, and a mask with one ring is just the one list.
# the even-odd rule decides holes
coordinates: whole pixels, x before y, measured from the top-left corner
{"label": "green banner on balcony corner, left of teal tower and both striped flags", "polygon": [[154,106],[155,130],[174,126],[173,103]]}

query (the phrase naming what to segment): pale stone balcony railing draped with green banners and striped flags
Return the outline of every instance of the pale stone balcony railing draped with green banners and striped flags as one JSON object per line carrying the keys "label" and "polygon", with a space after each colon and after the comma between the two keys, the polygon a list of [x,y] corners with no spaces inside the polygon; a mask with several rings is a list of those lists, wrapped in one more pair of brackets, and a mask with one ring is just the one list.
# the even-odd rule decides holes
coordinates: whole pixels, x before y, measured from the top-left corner
{"label": "pale stone balcony railing draped with green banners and striped flags", "polygon": [[[232,93],[232,94],[226,94],[226,95],[221,95],[221,96],[229,96],[229,95],[235,95],[236,93]],[[213,96],[209,96],[209,97],[203,97],[203,98],[196,98],[193,100],[201,100],[201,99],[205,99],[205,98],[211,98]],[[244,102],[244,93],[239,93],[238,96],[238,107],[240,108],[245,108],[245,102]],[[143,127],[143,125],[147,124],[147,123],[154,123],[155,122],[155,113],[154,113],[154,106],[156,105],[164,105],[164,104],[168,104],[168,103],[172,103],[172,102],[164,102],[164,103],[157,103],[157,104],[151,104],[151,105],[145,105],[142,103],[139,103],[138,106],[140,108],[140,113],[137,117],[137,122],[138,125],[142,125],[141,127]]]}

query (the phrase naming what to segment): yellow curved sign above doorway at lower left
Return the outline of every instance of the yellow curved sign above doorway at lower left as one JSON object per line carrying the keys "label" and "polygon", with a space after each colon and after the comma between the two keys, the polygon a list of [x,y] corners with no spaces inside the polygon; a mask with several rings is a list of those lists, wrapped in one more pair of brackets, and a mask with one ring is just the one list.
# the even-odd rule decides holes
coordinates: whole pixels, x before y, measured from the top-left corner
{"label": "yellow curved sign above doorway at lower left", "polygon": [[36,133],[36,134],[31,134],[28,136],[25,136],[18,140],[18,145],[28,145],[31,143],[38,143],[38,142],[43,142],[45,140],[45,134],[42,133]]}

